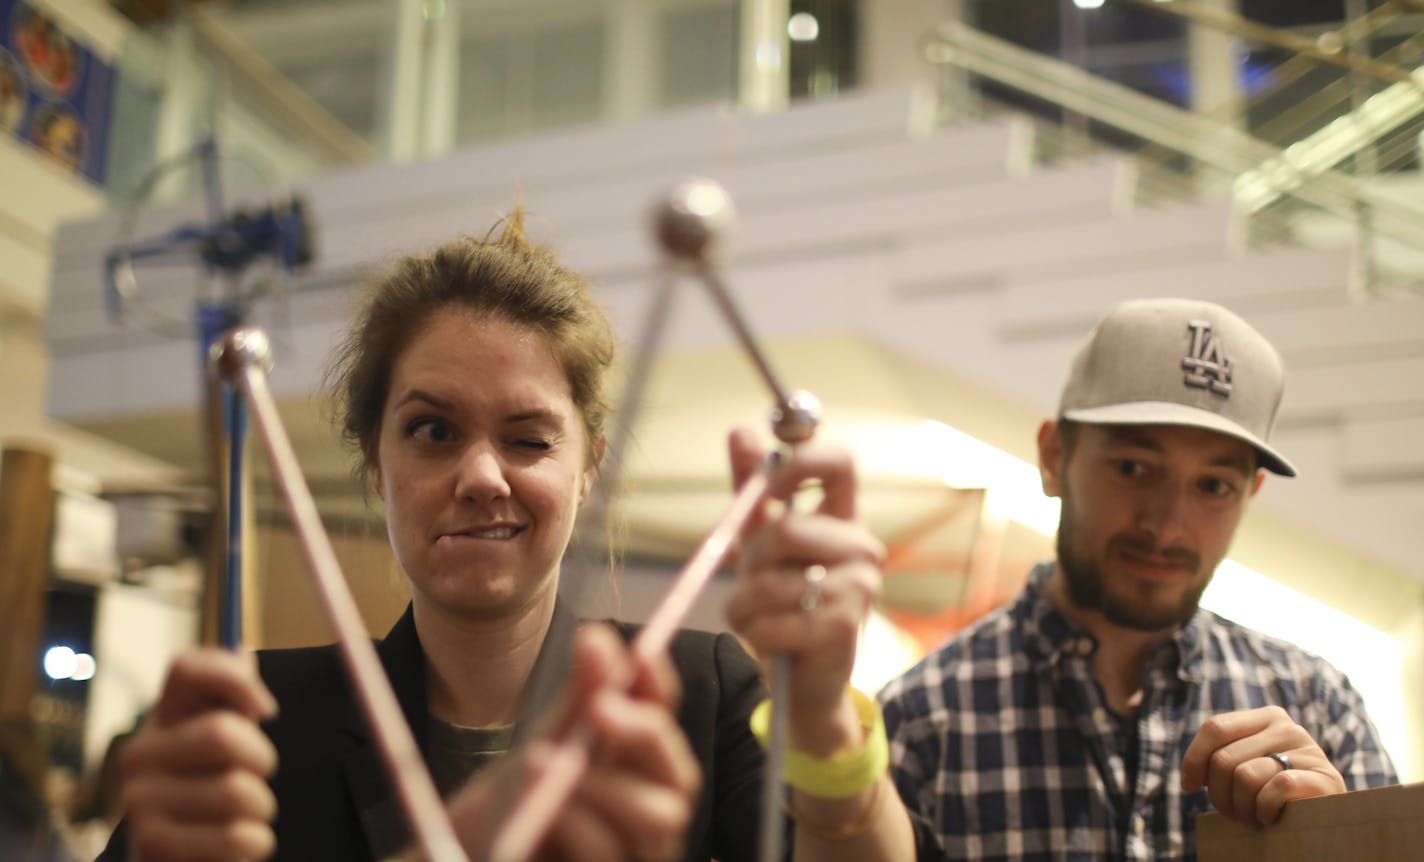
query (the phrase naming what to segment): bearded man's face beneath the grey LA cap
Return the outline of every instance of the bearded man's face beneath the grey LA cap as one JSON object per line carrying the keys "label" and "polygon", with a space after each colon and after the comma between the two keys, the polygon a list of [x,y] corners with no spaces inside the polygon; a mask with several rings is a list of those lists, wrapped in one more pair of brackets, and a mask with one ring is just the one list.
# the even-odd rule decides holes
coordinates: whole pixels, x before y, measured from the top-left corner
{"label": "bearded man's face beneath the grey LA cap", "polygon": [[1040,467],[1069,601],[1138,631],[1190,618],[1262,479],[1246,443],[1171,425],[1078,425],[1065,449],[1045,423]]}

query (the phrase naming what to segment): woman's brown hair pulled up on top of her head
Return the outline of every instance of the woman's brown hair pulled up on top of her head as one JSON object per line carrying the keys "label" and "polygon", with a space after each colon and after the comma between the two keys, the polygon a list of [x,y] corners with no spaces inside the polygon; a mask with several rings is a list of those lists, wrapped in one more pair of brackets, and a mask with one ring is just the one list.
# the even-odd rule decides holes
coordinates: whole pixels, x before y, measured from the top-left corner
{"label": "woman's brown hair pulled up on top of her head", "polygon": [[527,326],[545,338],[584,420],[588,459],[604,433],[604,373],[612,363],[612,326],[578,274],[524,234],[518,207],[483,239],[460,237],[406,255],[366,292],[326,375],[342,437],[360,453],[356,473],[377,469],[382,412],[396,359],[446,308],[463,308]]}

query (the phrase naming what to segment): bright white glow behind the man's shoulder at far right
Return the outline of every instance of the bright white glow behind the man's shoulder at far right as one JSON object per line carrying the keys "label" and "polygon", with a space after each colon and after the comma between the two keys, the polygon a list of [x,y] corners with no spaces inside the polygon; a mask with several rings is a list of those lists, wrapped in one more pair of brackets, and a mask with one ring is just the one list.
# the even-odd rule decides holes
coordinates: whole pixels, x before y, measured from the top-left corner
{"label": "bright white glow behind the man's shoulder at far right", "polygon": [[1396,767],[1413,762],[1398,638],[1233,560],[1216,567],[1202,607],[1290,641],[1340,668],[1364,698]]}

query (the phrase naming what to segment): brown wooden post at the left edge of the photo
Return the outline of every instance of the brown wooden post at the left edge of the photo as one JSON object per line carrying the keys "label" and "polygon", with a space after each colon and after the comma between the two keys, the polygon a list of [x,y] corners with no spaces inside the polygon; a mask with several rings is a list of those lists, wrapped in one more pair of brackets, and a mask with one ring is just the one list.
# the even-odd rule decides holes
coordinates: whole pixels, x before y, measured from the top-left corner
{"label": "brown wooden post at the left edge of the photo", "polygon": [[54,527],[54,456],[0,455],[0,718],[28,718]]}

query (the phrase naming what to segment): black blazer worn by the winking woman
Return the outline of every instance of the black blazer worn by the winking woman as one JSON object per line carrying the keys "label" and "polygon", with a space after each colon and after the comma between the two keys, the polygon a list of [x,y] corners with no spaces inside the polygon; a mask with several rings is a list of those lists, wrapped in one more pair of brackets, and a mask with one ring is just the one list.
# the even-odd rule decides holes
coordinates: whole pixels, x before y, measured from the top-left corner
{"label": "black blazer worn by the winking woman", "polygon": [[[625,640],[638,627],[615,623]],[[555,606],[533,680],[551,673],[575,621]],[[560,647],[555,650],[555,647]],[[420,751],[429,757],[424,653],[410,608],[376,653]],[[678,721],[702,765],[703,786],[688,832],[688,862],[756,858],[763,752],[748,728],[763,697],[756,663],[729,634],[681,631],[669,647],[682,678]],[[278,751],[272,789],[279,861],[383,859],[409,843],[366,720],[335,645],[265,650],[258,665],[281,712],[265,725]],[[124,859],[122,825],[101,861]]]}

